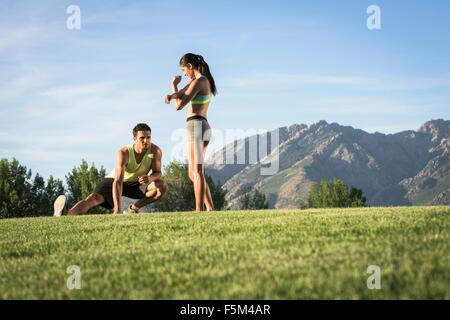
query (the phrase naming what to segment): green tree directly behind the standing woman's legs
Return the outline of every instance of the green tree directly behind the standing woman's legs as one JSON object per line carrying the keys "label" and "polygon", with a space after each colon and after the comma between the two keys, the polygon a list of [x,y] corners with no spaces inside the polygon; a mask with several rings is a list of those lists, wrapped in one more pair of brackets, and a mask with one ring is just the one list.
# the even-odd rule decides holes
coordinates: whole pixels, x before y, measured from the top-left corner
{"label": "green tree directly behind the standing woman's legs", "polygon": [[[164,175],[161,177],[169,185],[169,192],[158,202],[153,204],[158,211],[191,211],[195,208],[194,185],[189,179],[188,165],[173,161],[164,167]],[[226,190],[219,184],[215,184],[212,178],[205,175],[211,191],[215,210],[221,210],[225,206]]]}

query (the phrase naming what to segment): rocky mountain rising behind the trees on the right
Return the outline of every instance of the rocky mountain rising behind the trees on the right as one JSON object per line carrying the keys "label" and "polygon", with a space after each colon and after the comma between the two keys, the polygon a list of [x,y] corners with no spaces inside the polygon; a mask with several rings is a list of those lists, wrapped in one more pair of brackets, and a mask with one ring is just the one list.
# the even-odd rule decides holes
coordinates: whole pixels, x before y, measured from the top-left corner
{"label": "rocky mountain rising behind the trees on the right", "polygon": [[[270,136],[276,133],[279,144],[272,148]],[[386,135],[322,120],[279,128],[268,136],[273,150],[268,156],[256,157],[260,150],[251,148],[252,141],[265,138],[259,135],[234,141],[208,160],[206,172],[228,190],[230,205],[257,188],[270,207],[298,207],[307,202],[313,182],[333,178],[362,189],[372,206],[450,204],[450,121],[432,120],[417,131]],[[276,153],[278,171],[262,175],[264,163]],[[245,161],[236,164],[242,154]]]}

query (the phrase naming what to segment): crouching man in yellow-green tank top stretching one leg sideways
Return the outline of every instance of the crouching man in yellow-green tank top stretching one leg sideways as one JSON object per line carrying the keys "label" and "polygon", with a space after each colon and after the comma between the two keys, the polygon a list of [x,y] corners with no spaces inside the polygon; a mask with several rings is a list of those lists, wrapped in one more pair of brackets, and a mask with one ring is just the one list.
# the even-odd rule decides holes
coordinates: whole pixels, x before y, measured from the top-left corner
{"label": "crouching man in yellow-green tank top stretching one leg sideways", "polygon": [[[139,199],[123,213],[138,213],[139,209],[158,201],[167,192],[167,183],[161,180],[161,149],[151,143],[151,129],[145,123],[133,129],[134,143],[120,148],[116,154],[115,169],[106,176],[93,193],[76,203],[69,215],[84,214],[101,205],[120,213],[122,196]],[[152,173],[150,175],[150,170]],[[60,216],[66,202],[64,195],[54,203],[54,215]]]}

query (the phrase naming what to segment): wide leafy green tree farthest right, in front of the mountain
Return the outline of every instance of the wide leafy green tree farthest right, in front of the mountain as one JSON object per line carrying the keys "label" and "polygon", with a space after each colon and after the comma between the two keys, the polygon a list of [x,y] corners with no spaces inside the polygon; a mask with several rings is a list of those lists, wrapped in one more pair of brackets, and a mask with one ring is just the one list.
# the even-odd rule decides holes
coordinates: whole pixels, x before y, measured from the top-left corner
{"label": "wide leafy green tree farthest right, in front of the mountain", "polygon": [[360,189],[352,187],[349,191],[342,180],[321,180],[319,190],[316,183],[312,184],[308,203],[312,208],[363,207],[366,198]]}

